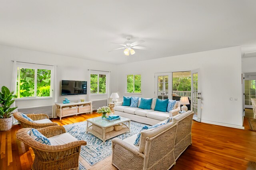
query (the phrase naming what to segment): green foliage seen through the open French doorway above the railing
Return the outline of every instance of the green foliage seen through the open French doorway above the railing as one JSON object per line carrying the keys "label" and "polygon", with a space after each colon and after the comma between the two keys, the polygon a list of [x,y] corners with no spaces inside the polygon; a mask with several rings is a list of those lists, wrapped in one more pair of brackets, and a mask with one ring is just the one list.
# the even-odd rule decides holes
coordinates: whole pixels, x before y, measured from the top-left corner
{"label": "green foliage seen through the open French doorway above the railing", "polygon": [[172,78],[173,91],[191,91],[191,77]]}

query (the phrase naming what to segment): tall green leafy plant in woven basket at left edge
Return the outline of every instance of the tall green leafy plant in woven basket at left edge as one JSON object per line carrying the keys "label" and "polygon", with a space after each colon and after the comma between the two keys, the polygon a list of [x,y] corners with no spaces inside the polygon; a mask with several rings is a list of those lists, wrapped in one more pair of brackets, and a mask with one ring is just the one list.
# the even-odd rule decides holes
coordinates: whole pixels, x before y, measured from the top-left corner
{"label": "tall green leafy plant in woven basket at left edge", "polygon": [[12,111],[14,111],[17,107],[11,107],[15,100],[13,95],[14,92],[10,92],[10,90],[6,86],[2,86],[2,92],[0,92],[0,131],[8,131],[12,128],[12,117],[10,116]]}

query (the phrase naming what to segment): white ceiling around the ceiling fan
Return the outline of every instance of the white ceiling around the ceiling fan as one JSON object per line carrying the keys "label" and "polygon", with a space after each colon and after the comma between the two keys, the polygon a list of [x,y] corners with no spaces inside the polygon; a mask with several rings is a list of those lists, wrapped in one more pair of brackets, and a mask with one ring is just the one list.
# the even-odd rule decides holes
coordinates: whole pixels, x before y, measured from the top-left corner
{"label": "white ceiling around the ceiling fan", "polygon": [[[255,0],[0,0],[0,44],[107,63],[256,46]],[[146,51],[125,56],[127,35]]]}

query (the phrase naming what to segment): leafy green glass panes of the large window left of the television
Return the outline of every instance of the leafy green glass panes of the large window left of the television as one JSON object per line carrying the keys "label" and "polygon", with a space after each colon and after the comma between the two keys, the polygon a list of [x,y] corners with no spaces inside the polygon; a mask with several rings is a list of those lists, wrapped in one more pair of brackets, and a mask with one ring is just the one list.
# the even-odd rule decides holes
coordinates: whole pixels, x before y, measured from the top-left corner
{"label": "leafy green glass panes of the large window left of the television", "polygon": [[[35,76],[36,74],[36,76]],[[35,84],[36,77],[36,84]],[[35,94],[36,89],[36,94]],[[51,70],[18,68],[16,97],[50,97]]]}

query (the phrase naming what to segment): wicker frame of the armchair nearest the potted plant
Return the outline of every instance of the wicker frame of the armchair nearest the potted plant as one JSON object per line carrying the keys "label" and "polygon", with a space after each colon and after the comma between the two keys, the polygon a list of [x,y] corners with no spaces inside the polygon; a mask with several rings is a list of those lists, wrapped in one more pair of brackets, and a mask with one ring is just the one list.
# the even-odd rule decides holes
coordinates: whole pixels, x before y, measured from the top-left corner
{"label": "wicker frame of the armchair nearest the potted plant", "polygon": [[[22,117],[20,112],[15,112],[13,113],[13,116],[15,119],[17,119],[20,124],[22,125],[23,128],[31,127],[34,129],[39,129],[43,127],[48,127],[48,126],[56,126],[58,123],[37,123],[37,122],[32,122],[28,121],[28,119],[25,119]],[[46,114],[27,114],[27,116],[32,119],[33,121],[37,120],[42,120],[42,119],[49,119],[48,115]]]}

